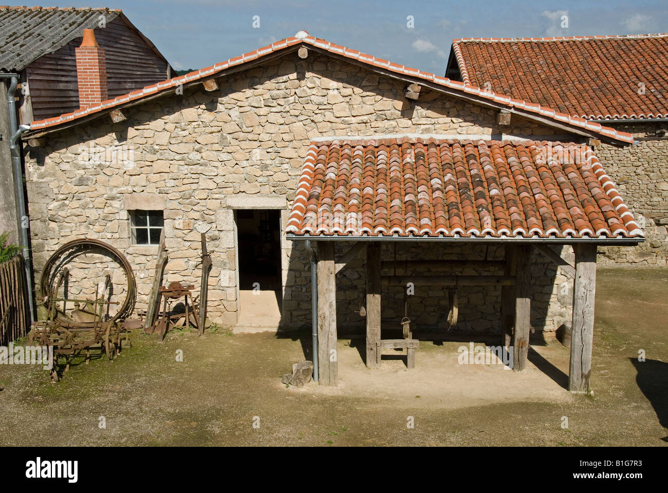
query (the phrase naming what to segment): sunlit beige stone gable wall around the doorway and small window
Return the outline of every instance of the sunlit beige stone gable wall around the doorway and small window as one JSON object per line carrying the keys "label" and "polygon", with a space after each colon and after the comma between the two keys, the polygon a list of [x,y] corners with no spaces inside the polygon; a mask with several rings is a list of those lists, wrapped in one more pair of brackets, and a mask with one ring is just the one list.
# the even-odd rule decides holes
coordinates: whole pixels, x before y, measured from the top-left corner
{"label": "sunlit beige stone gable wall around the doorway and small window", "polygon": [[[206,232],[213,260],[209,315],[218,323],[234,325],[238,300],[232,198],[259,204],[283,200],[285,228],[311,139],[399,133],[489,138],[500,133],[493,110],[429,91],[409,104],[404,90],[405,82],[357,65],[313,54],[301,60],[292,53],[221,80],[215,92],[197,86],[128,108],[125,122],[112,124],[104,116],[49,136],[45,146],[27,148],[26,158],[36,279],[59,245],[75,238],[99,238],[132,263],[137,307],[144,307],[157,249],[131,244],[128,211],[160,209],[170,255],[166,282],[198,285],[200,232]],[[513,121],[504,134],[554,137],[551,128],[521,118]],[[283,238],[281,247],[283,325],[305,326],[311,315],[309,258],[301,244]],[[462,252],[469,249],[462,247]],[[434,254],[450,252],[436,249]],[[415,247],[407,255],[422,254]],[[498,251],[490,249],[490,255]],[[535,289],[545,306],[548,300],[556,303],[554,286],[561,279],[545,276],[540,262],[534,266]],[[355,278],[354,272],[340,277],[339,313],[342,322],[359,324],[353,314],[359,310],[363,278],[359,272]],[[498,326],[499,293],[488,291],[462,289],[462,327]],[[427,291],[415,300],[416,307],[427,308],[417,323],[442,323],[447,296]],[[397,316],[395,300],[386,297],[385,307],[387,317]],[[556,328],[556,313],[536,313],[536,325]]]}

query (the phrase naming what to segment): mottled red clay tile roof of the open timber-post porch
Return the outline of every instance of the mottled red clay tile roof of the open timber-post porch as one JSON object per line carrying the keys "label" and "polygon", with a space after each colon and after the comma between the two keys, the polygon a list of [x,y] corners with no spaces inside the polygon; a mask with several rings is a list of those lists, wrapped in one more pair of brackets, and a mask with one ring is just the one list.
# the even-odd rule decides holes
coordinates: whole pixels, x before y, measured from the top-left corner
{"label": "mottled red clay tile roof of the open timber-post porch", "polygon": [[286,231],[338,236],[642,236],[591,148],[396,138],[312,142]]}

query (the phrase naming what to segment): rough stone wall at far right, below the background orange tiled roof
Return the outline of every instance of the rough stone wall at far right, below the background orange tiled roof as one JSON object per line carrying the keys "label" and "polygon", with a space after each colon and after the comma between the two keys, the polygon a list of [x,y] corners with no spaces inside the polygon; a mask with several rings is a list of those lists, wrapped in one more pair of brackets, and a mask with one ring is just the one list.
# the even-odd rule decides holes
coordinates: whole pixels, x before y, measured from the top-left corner
{"label": "rough stone wall at far right, below the background orange tiled roof", "polygon": [[[617,130],[645,138],[668,124],[618,124]],[[638,247],[609,247],[600,256],[602,265],[668,265],[668,140],[641,140],[616,148],[601,144],[595,149],[629,209],[645,232]]]}

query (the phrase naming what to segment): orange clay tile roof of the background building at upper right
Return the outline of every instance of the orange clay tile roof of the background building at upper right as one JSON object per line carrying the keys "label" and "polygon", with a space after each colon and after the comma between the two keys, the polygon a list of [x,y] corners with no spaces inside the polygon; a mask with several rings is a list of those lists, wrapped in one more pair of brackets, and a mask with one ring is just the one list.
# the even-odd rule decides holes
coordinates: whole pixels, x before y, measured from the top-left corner
{"label": "orange clay tile roof of the background building at upper right", "polygon": [[465,84],[580,118],[668,118],[668,34],[467,38],[452,43]]}

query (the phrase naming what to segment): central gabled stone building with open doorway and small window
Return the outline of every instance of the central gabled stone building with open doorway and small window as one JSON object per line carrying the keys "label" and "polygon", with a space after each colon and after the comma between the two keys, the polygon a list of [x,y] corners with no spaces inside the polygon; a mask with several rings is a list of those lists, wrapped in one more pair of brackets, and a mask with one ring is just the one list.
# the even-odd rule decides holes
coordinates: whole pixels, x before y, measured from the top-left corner
{"label": "central gabled stone building with open doorway and small window", "polygon": [[[41,266],[64,242],[98,238],[130,259],[141,308],[164,224],[170,256],[167,282],[198,283],[200,233],[206,234],[213,260],[208,295],[212,321],[234,327],[266,309],[257,303],[262,300],[276,305],[283,327],[307,325],[309,252],[303,242],[290,241],[285,234],[305,161],[319,144],[388,136],[411,142],[456,140],[462,146],[540,141],[541,149],[562,149],[552,144],[562,141],[579,144],[586,156],[591,152],[588,144],[605,142],[616,148],[633,142],[629,134],[601,124],[396,65],[300,31],[212,67],[33,122],[25,172],[35,277],[39,279]],[[615,211],[605,202],[605,193],[595,197],[604,188],[609,194],[611,182],[591,186],[593,195],[585,192],[583,210],[586,203],[598,202],[599,212],[591,214],[603,210],[613,222],[603,227],[606,232],[580,225],[566,235],[613,243],[641,240],[630,213],[621,206]],[[616,206],[623,205],[621,198],[615,200]],[[524,212],[512,214],[528,217]],[[548,228],[538,230],[551,234]],[[519,228],[508,234],[538,233]],[[395,252],[388,244],[383,257],[464,255],[481,262],[504,258],[502,242],[431,245],[427,250],[423,244],[406,244]],[[348,247],[345,242],[337,245],[337,256]],[[554,255],[572,256],[568,247],[560,250]],[[342,326],[364,325],[359,315],[364,303],[362,264],[360,259],[341,273],[337,311]],[[531,269],[532,325],[556,329],[570,318],[572,279],[537,251],[532,253]],[[458,274],[479,271],[466,267]],[[460,328],[498,330],[500,287],[463,286],[458,294]],[[399,289],[383,299],[383,317],[397,325],[405,311],[402,298]],[[409,307],[413,321],[422,327],[444,327],[447,310],[448,296],[442,289],[418,289]]]}

